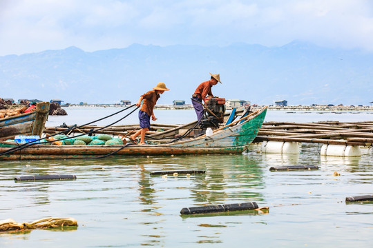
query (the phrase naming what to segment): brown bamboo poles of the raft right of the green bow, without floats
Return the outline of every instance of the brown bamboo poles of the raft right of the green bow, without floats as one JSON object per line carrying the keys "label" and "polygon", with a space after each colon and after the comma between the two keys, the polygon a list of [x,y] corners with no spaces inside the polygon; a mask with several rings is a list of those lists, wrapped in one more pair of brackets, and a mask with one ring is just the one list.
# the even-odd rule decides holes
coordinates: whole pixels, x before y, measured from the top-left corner
{"label": "brown bamboo poles of the raft right of the green bow, without floats", "polygon": [[263,123],[253,143],[263,141],[372,146],[373,121],[316,123]]}

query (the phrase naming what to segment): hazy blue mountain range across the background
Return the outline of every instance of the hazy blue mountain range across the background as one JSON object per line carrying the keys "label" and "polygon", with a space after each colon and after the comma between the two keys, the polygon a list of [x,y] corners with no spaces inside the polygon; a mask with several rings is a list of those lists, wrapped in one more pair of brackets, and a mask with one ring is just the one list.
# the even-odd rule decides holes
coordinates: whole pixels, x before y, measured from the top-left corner
{"label": "hazy blue mountain range across the background", "polygon": [[0,56],[0,97],[61,99],[66,103],[133,103],[163,81],[158,101],[190,102],[195,87],[220,73],[213,94],[264,105],[369,105],[373,54],[294,41],[282,47],[238,43],[227,47],[131,45],[84,52],[65,50]]}

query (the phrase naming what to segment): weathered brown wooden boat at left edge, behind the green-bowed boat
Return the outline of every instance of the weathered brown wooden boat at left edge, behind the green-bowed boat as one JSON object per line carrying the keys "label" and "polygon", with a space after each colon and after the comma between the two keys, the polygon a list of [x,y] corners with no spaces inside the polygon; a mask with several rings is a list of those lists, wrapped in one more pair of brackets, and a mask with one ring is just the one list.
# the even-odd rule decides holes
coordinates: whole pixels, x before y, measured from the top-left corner
{"label": "weathered brown wooden boat at left edge, behind the green-bowed boat", "polygon": [[33,112],[0,118],[0,140],[14,138],[16,135],[41,136],[48,113],[49,102],[41,102],[37,103]]}

